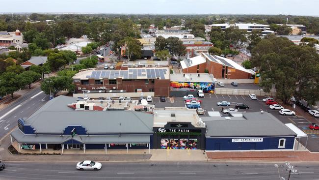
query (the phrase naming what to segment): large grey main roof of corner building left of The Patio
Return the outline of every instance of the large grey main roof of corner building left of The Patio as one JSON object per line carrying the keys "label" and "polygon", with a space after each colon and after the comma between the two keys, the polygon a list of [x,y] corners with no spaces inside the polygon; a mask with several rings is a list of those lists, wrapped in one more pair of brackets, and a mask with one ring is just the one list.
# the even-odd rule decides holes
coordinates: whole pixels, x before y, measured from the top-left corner
{"label": "large grey main roof of corner building left of The Patio", "polygon": [[63,133],[69,125],[81,125],[90,134],[153,133],[153,116],[135,111],[75,111],[67,104],[76,98],[53,98],[26,121],[36,133]]}

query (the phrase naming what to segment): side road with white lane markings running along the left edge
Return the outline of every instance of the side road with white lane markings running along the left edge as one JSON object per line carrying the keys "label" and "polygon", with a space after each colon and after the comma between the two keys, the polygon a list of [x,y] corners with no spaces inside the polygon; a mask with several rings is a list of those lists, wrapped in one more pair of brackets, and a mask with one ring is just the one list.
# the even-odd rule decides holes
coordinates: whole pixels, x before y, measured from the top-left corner
{"label": "side road with white lane markings running along the left edge", "polygon": [[10,132],[19,118],[26,119],[49,100],[40,87],[27,92],[0,111],[0,139]]}

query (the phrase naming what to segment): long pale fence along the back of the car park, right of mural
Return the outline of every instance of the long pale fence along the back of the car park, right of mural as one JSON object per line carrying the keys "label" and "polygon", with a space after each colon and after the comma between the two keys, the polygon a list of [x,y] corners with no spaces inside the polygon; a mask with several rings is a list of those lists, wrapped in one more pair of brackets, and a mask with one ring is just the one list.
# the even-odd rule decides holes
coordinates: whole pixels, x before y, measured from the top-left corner
{"label": "long pale fence along the back of the car park, right of mural", "polygon": [[243,89],[216,88],[215,94],[229,94],[229,95],[255,94],[255,95],[259,95],[259,96],[263,96],[263,95],[275,96],[276,92],[265,92],[264,90],[243,90]]}

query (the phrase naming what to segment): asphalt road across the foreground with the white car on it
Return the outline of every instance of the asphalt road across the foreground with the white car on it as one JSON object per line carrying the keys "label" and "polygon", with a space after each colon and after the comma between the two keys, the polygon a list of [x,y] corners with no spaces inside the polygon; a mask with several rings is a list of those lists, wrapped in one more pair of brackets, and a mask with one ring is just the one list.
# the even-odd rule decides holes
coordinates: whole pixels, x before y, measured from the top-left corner
{"label": "asphalt road across the foreground with the white car on it", "polygon": [[[76,162],[6,162],[1,180],[288,180],[282,163],[105,162],[100,171],[76,170]],[[291,164],[291,180],[318,180],[318,164]]]}

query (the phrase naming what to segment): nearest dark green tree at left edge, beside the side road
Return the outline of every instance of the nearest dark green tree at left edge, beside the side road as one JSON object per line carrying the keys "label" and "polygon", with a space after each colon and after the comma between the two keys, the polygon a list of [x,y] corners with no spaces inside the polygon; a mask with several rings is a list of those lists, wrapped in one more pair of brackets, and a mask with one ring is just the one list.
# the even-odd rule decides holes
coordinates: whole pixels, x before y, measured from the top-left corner
{"label": "nearest dark green tree at left edge, beside the side road", "polygon": [[19,76],[14,72],[5,72],[0,76],[0,95],[4,96],[6,94],[11,94],[13,98],[13,93],[20,90],[23,87],[22,81]]}

